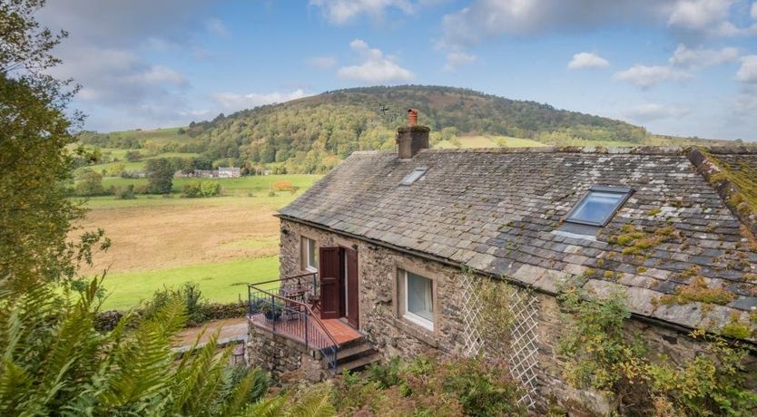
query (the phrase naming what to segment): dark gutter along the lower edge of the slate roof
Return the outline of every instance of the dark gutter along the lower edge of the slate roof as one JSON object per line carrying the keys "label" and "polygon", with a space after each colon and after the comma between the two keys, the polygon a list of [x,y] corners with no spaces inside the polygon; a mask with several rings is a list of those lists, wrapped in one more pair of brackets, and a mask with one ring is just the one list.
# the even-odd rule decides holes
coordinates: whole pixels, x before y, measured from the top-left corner
{"label": "dark gutter along the lower edge of the slate roof", "polygon": [[[360,240],[362,242],[366,242],[366,243],[369,243],[369,244],[374,245],[374,246],[385,247],[385,248],[388,248],[388,249],[391,249],[391,250],[395,250],[395,251],[401,252],[401,253],[403,253],[405,255],[410,255],[410,256],[413,256],[413,257],[420,257],[420,258],[423,258],[425,260],[429,260],[429,261],[432,261],[432,262],[437,262],[437,263],[445,265],[447,267],[460,267],[461,265],[463,265],[463,264],[460,264],[460,263],[457,263],[457,262],[450,261],[449,259],[447,259],[445,257],[437,257],[437,256],[434,256],[434,255],[430,255],[428,253],[425,253],[425,252],[420,252],[418,250],[408,249],[407,247],[398,247],[397,245],[392,245],[390,243],[382,242],[380,240],[376,240],[376,239],[372,239],[372,238],[366,238],[364,236],[355,235],[353,233],[337,230],[335,228],[329,228],[328,226],[324,226],[324,225],[321,225],[319,223],[314,223],[314,222],[309,221],[309,220],[303,220],[301,218],[293,218],[293,217],[290,217],[290,216],[287,216],[287,215],[283,215],[283,214],[280,214],[280,213],[274,214],[273,216],[276,217],[276,218],[281,218],[281,219],[284,219],[284,220],[291,221],[293,223],[299,223],[299,224],[304,225],[304,226],[309,226],[310,228],[318,228],[320,230],[323,230],[323,231],[326,231],[326,232],[329,232],[329,233],[334,233],[334,234],[337,234],[337,235],[341,235],[341,236],[346,237],[346,238],[354,238],[356,240]],[[500,280],[503,279],[503,276],[498,276],[496,274],[493,274],[493,273],[490,273],[490,272],[486,272],[486,271],[481,271],[481,270],[478,270],[478,269],[475,269],[475,270],[476,270],[477,274],[481,275],[481,276],[487,276],[487,277],[492,278],[492,279],[500,279]],[[556,296],[559,295],[559,293],[554,293],[552,291],[547,291],[547,290],[542,289],[542,288],[537,288],[536,286],[529,286],[529,285],[524,284],[524,283],[522,283],[520,281],[516,281],[516,280],[514,280],[512,278],[505,277],[504,280],[508,284],[510,284],[510,285],[517,286],[519,288],[523,288],[523,289],[526,289],[526,290],[536,291],[537,293],[541,293],[541,294],[544,294],[546,296],[556,297]],[[642,323],[645,323],[645,324],[648,324],[648,325],[656,325],[658,327],[664,327],[666,329],[673,330],[674,332],[677,332],[677,333],[683,333],[687,337],[689,337],[688,334],[691,333],[694,330],[693,327],[689,327],[689,326],[686,326],[686,325],[679,325],[677,323],[669,322],[667,320],[663,320],[663,319],[660,319],[660,318],[650,317],[648,315],[639,315],[639,314],[633,313],[633,312],[631,313],[631,318],[634,318],[635,320],[638,320],[638,321],[640,321]],[[735,340],[735,339],[733,339],[733,340]],[[752,342],[750,340],[742,340],[742,339],[738,339],[738,340],[739,340],[739,342],[742,342],[744,344],[749,344],[750,351],[752,351],[752,353],[756,353],[757,354],[757,343]]]}

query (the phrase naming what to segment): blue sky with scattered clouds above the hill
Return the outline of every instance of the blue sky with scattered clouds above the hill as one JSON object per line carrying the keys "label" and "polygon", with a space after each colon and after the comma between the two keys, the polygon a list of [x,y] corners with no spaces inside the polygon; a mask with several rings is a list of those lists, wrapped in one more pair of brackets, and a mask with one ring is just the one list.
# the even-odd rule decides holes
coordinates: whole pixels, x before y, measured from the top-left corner
{"label": "blue sky with scattered clouds above the hill", "polygon": [[467,87],[757,140],[753,0],[50,0],[87,129],[178,126],[377,84]]}

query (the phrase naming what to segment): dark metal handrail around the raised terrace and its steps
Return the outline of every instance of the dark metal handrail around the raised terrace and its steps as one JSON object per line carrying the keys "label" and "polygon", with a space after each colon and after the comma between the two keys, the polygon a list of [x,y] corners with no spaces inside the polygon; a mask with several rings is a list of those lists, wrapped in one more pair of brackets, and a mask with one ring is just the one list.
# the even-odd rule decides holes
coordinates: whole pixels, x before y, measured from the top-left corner
{"label": "dark metal handrail around the raised terrace and its steps", "polygon": [[[248,303],[249,303],[248,304],[248,314],[252,318],[253,311],[255,313],[259,313],[260,311],[258,310],[258,307],[259,307],[259,305],[260,305],[261,302],[263,302],[265,304],[271,305],[272,306],[272,311],[274,312],[273,313],[273,317],[274,318],[271,320],[271,331],[273,333],[278,333],[277,329],[276,329],[276,321],[278,320],[278,316],[275,313],[276,310],[277,310],[277,308],[280,309],[281,313],[287,312],[290,315],[294,314],[294,315],[297,315],[298,317],[300,317],[301,315],[303,315],[302,311],[304,311],[305,325],[304,325],[304,329],[303,329],[304,330],[304,335],[302,335],[302,336],[303,336],[303,339],[304,339],[304,342],[305,342],[305,347],[313,347],[313,348],[319,349],[320,353],[323,354],[327,359],[329,359],[329,365],[330,365],[330,367],[334,371],[336,371],[336,366],[337,366],[337,351],[339,350],[339,343],[336,341],[336,339],[334,338],[334,336],[331,335],[331,333],[329,332],[329,329],[326,328],[326,325],[324,325],[323,322],[320,320],[320,317],[318,315],[316,315],[315,312],[313,312],[312,308],[310,308],[310,305],[307,305],[307,304],[302,303],[302,302],[297,301],[297,300],[293,300],[293,299],[288,298],[286,296],[280,296],[278,294],[274,294],[274,293],[271,292],[270,289],[263,289],[262,288],[262,286],[265,286],[266,284],[272,284],[272,283],[277,283],[277,282],[288,281],[288,280],[291,280],[291,279],[302,278],[304,276],[313,276],[313,291],[315,292],[315,290],[317,289],[316,280],[318,278],[318,273],[316,273],[316,272],[309,272],[309,273],[300,274],[300,275],[297,275],[297,276],[287,276],[287,277],[283,277],[283,278],[280,278],[280,279],[271,279],[271,280],[268,280],[268,281],[262,281],[262,282],[255,283],[255,284],[248,284],[247,285],[247,287],[248,287]],[[302,283],[300,282],[300,283],[298,283],[298,285],[301,286]],[[253,298],[256,299],[255,308],[253,308],[253,303],[252,303]],[[278,301],[278,303],[277,303],[277,301]],[[299,319],[300,318],[298,318],[298,320]],[[310,327],[309,322],[314,322],[315,323],[315,326],[316,326],[316,329],[317,329],[318,333],[320,333],[321,335],[325,335],[326,336],[326,338],[328,339],[328,341],[330,343],[329,345],[325,345],[324,346],[322,344],[325,341],[322,338],[320,338],[320,337],[318,337],[316,335],[309,335],[309,327]],[[313,330],[316,330],[316,329],[313,329]],[[296,333],[297,332],[295,332],[294,335],[296,337],[299,337],[298,335],[296,335]],[[314,339],[313,343],[310,343],[311,342],[310,339]],[[318,345],[319,342],[321,342],[320,343],[321,345]]]}

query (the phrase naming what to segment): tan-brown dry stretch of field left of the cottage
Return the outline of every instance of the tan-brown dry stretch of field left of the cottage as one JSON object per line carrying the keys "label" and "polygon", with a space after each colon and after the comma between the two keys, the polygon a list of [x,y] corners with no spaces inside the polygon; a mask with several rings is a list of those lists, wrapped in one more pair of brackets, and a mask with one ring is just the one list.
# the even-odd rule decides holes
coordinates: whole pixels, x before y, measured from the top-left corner
{"label": "tan-brown dry stretch of field left of the cottage", "polygon": [[149,271],[279,252],[279,220],[255,204],[97,208],[84,230],[103,228],[113,246],[84,274]]}

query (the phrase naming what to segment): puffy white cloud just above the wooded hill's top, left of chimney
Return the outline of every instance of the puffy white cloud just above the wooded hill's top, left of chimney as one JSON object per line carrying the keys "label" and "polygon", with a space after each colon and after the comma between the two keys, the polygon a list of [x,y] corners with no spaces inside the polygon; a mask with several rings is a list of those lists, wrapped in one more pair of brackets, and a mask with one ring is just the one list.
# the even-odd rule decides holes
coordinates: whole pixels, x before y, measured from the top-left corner
{"label": "puffy white cloud just above the wooded hill's top, left of chimney", "polygon": [[361,39],[350,42],[349,47],[359,53],[362,63],[339,68],[339,78],[371,84],[407,82],[415,77],[415,74],[399,66],[395,57],[384,55]]}

